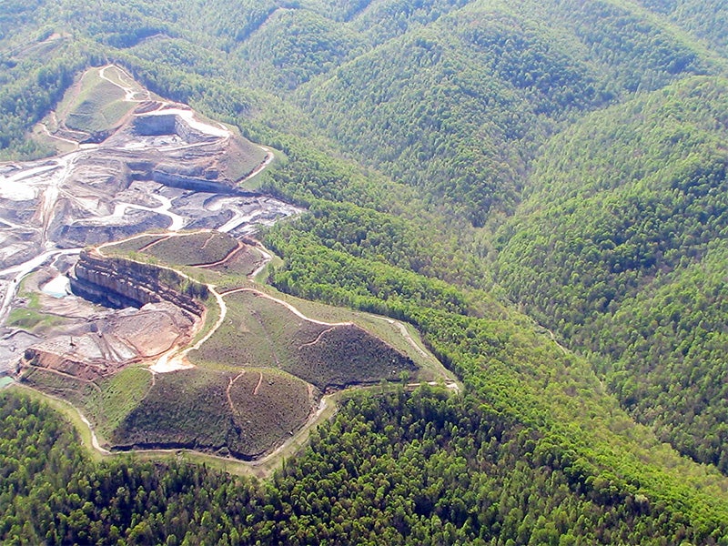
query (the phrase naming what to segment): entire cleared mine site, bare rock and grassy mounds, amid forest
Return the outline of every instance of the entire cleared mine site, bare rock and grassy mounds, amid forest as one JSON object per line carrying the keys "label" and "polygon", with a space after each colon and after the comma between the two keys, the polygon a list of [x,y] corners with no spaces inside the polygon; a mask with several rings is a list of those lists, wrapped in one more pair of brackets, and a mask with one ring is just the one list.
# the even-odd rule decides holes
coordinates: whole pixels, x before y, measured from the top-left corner
{"label": "entire cleared mine site, bare rock and grassy mounds, amid forest", "polygon": [[[80,77],[41,125],[66,155],[0,165],[0,372],[21,363],[22,385],[72,404],[97,451],[195,450],[260,471],[351,386],[455,385],[406,325],[256,282],[274,257],[250,234],[300,212],[239,188],[268,148],[115,66]],[[81,278],[80,262],[107,267]],[[89,296],[105,292],[124,305]]]}

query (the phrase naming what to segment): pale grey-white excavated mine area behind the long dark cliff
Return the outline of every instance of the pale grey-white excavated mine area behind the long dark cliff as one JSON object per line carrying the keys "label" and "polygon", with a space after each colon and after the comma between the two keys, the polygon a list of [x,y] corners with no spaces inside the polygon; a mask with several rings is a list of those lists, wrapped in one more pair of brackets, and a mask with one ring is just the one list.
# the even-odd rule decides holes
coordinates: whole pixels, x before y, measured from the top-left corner
{"label": "pale grey-white excavated mine area behind the long dark cliff", "polygon": [[[109,69],[126,81],[123,71]],[[95,70],[104,78],[104,69]],[[112,80],[106,83],[117,85]],[[50,124],[61,129],[45,140],[62,141],[63,154],[0,165],[0,247],[5,248],[0,270],[54,246],[83,248],[155,227],[193,224],[207,211],[180,214],[175,201],[187,192],[260,197],[238,183],[268,165],[267,149],[188,106],[151,100],[138,88],[136,96],[149,100],[127,96],[127,113],[108,131],[66,130],[61,114]],[[117,95],[121,92],[126,88]],[[96,98],[101,104],[108,97]],[[47,126],[41,127],[47,133]]]}

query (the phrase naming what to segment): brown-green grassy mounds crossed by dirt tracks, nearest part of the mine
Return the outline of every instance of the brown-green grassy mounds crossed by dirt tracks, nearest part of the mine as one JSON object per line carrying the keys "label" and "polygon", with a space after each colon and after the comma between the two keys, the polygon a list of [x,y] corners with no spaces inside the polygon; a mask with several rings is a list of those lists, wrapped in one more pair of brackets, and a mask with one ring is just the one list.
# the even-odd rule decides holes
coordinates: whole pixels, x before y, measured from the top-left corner
{"label": "brown-green grassy mounds crossed by dirt tracks, nearest part of the mine", "polygon": [[[166,242],[185,249],[176,261],[161,258],[170,255]],[[178,268],[219,295],[217,313],[196,326],[207,335],[192,345],[187,332],[187,342],[167,341],[155,356],[96,377],[59,369],[53,361],[29,361],[23,382],[82,410],[107,450],[186,449],[258,460],[315,423],[326,408],[326,393],[382,381],[450,381],[413,339],[390,331],[389,342],[367,329],[376,324],[387,331],[386,319],[329,306],[320,306],[319,315],[341,320],[309,317],[293,298],[251,281],[269,256],[253,243],[203,231],[143,235],[99,248],[103,256]],[[200,259],[207,263],[186,265]],[[233,288],[218,293],[213,279]],[[38,301],[51,303],[48,298]],[[159,347],[162,325],[149,331],[147,338]],[[50,339],[64,342],[67,336]],[[159,372],[160,360],[167,373]]]}

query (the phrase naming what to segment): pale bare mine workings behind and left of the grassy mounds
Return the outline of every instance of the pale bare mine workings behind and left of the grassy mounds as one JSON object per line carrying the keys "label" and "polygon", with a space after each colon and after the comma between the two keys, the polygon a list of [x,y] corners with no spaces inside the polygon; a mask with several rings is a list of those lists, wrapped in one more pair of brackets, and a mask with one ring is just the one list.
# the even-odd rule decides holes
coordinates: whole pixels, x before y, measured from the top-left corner
{"label": "pale bare mine workings behind and left of the grassy mounds", "polygon": [[[45,143],[65,153],[0,164],[0,375],[12,372],[25,349],[39,343],[46,349],[66,344],[79,358],[112,363],[136,347],[128,339],[136,339],[140,347],[134,350],[141,355],[159,349],[147,347],[144,336],[128,326],[135,320],[167,325],[152,345],[187,335],[194,318],[164,306],[141,309],[136,318],[115,313],[105,319],[105,311],[82,298],[49,299],[70,293],[67,276],[83,248],[149,230],[204,228],[240,238],[299,212],[241,186],[268,167],[272,150],[188,106],[153,96],[123,69],[92,69],[68,93],[60,105],[65,111],[52,112],[37,129]],[[111,106],[116,116],[95,125],[91,110]],[[13,309],[32,313],[34,302],[18,297],[25,284],[47,299],[45,311],[87,323],[76,338],[69,333],[38,339],[7,324]],[[92,330],[121,333],[89,341]]]}

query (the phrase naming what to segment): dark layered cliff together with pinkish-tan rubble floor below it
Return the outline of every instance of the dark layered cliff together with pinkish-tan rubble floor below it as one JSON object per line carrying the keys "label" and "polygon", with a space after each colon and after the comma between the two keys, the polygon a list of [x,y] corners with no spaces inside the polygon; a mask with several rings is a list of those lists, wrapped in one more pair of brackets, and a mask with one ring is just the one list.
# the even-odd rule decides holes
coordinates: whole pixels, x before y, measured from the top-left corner
{"label": "dark layered cliff together with pinkish-tan rubble floor below it", "polygon": [[71,288],[84,298],[124,310],[89,322],[73,335],[25,349],[25,362],[86,381],[188,341],[205,311],[196,298],[207,296],[206,286],[175,271],[106,258],[93,250],[79,257]]}

